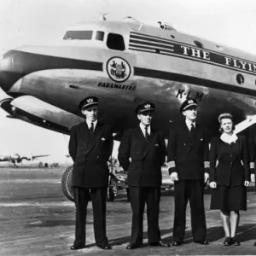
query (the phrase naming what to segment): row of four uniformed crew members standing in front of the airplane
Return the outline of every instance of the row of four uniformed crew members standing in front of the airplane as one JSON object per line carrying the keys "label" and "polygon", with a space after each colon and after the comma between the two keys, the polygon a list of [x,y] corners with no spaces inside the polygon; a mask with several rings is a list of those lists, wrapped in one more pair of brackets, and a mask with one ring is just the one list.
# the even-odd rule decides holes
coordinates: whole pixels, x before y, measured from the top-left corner
{"label": "row of four uniformed crew members standing in front of the airplane", "polygon": [[[108,125],[97,120],[98,99],[95,96],[86,97],[79,107],[86,121],[73,126],[69,142],[69,153],[74,162],[72,182],[76,207],[75,241],[70,248],[79,250],[85,247],[87,205],[91,195],[96,246],[108,250],[111,246],[106,234],[106,199],[108,159],[113,150],[112,132]],[[128,172],[132,210],[131,239],[126,248],[143,245],[145,204],[149,246],[171,247],[161,240],[159,228],[161,166],[166,154],[169,174],[174,181],[172,246],[183,243],[188,201],[193,241],[208,244],[204,208],[204,188],[208,180],[212,188],[211,209],[221,212],[224,246],[239,246],[239,241],[236,241],[239,211],[247,210],[246,187],[254,176],[250,177],[247,140],[233,133],[232,115],[219,115],[221,136],[212,139],[209,150],[207,130],[195,122],[197,102],[187,99],[180,108],[185,121],[172,124],[166,150],[163,133],[151,126],[154,108],[152,102],[137,106],[140,123],[124,132],[119,145],[119,163]],[[251,168],[254,169],[253,163]]]}

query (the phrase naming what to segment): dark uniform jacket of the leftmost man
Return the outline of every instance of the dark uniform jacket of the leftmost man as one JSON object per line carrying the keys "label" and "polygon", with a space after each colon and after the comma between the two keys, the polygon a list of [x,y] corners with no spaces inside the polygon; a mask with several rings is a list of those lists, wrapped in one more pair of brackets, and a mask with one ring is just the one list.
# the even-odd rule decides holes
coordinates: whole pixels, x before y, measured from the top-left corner
{"label": "dark uniform jacket of the leftmost man", "polygon": [[86,122],[73,126],[69,154],[73,159],[73,186],[108,186],[108,159],[112,154],[113,137],[108,125],[99,121],[92,137]]}

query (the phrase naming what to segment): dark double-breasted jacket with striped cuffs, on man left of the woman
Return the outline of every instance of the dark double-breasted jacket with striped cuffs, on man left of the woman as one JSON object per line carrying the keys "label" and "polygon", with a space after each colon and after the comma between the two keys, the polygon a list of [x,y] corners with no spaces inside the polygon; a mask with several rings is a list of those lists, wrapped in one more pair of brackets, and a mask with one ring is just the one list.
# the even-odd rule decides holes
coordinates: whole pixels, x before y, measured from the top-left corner
{"label": "dark double-breasted jacket with striped cuffs, on man left of the woman", "polygon": [[172,123],[167,148],[169,173],[177,172],[179,179],[204,179],[209,168],[207,129],[196,124],[193,139],[189,132],[185,121]]}

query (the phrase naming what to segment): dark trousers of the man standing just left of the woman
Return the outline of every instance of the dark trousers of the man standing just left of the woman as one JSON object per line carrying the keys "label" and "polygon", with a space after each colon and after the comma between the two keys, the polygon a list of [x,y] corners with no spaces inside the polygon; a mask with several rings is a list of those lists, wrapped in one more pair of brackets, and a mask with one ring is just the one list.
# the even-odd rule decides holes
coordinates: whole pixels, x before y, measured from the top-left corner
{"label": "dark trousers of the man standing just left of the woman", "polygon": [[175,213],[173,241],[183,241],[186,228],[186,207],[191,208],[191,226],[194,241],[203,241],[207,235],[204,207],[204,182],[202,180],[179,180],[174,185]]}

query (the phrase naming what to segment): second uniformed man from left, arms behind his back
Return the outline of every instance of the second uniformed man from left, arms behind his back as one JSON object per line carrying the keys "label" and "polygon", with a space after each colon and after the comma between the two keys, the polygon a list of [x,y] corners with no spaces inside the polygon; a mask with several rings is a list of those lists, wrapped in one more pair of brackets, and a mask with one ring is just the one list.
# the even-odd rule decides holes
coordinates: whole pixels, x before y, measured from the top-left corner
{"label": "second uniformed man from left, arms behind his back", "polygon": [[126,248],[135,249],[143,244],[145,203],[149,245],[170,247],[161,241],[159,230],[161,166],[166,158],[165,140],[160,131],[151,127],[153,103],[139,105],[136,113],[140,124],[124,132],[119,146],[119,163],[128,171],[127,183],[132,210],[131,241]]}

